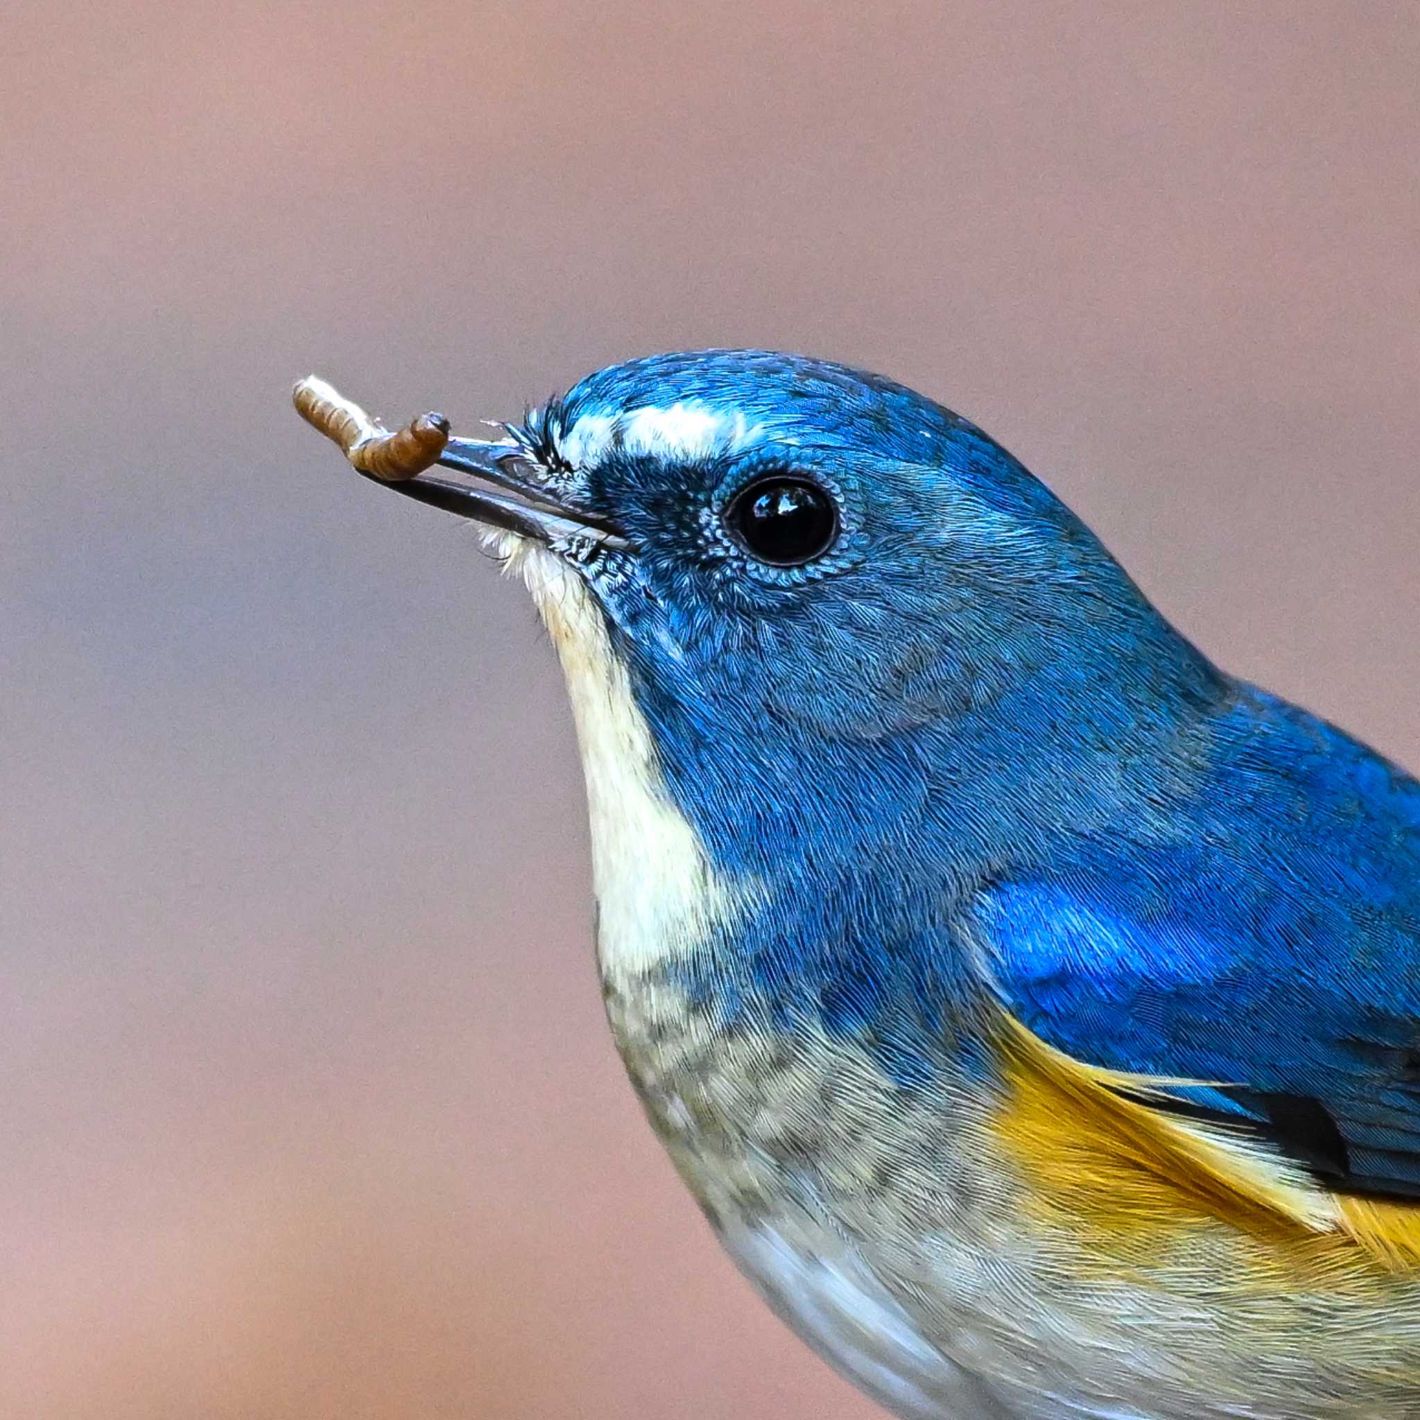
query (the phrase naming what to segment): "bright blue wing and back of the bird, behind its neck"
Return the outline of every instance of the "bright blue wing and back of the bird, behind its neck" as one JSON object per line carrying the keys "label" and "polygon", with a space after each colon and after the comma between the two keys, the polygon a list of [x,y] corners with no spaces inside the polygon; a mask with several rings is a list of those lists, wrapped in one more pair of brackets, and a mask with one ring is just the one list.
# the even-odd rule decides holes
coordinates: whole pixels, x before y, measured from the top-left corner
{"label": "bright blue wing and back of the bird, behind its neck", "polygon": [[1247,687],[1183,784],[977,899],[1007,1007],[1340,1187],[1420,1196],[1420,784]]}

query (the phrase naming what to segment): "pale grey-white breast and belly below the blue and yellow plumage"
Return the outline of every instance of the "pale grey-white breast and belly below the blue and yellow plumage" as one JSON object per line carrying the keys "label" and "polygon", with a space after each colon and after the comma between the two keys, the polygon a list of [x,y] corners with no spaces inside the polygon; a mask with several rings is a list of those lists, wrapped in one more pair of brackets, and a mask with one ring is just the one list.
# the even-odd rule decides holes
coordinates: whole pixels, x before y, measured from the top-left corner
{"label": "pale grey-white breast and belly below the blue and yellow plumage", "polygon": [[1288,1282],[1200,1218],[1122,1262],[1021,1191],[964,1089],[905,1098],[825,1035],[716,1031],[665,977],[609,984],[608,1011],[736,1264],[902,1420],[1420,1420],[1404,1279]]}

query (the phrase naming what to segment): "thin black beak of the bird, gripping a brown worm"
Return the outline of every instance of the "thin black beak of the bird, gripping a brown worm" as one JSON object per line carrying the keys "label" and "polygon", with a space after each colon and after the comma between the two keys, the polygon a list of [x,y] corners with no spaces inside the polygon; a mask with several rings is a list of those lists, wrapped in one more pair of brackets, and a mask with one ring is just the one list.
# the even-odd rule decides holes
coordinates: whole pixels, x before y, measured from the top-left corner
{"label": "thin black beak of the bird, gripping a brown worm", "polygon": [[444,513],[457,513],[462,518],[473,518],[537,542],[582,537],[606,548],[626,547],[626,538],[609,520],[558,503],[531,479],[520,477],[517,470],[528,469],[528,462],[517,444],[450,439],[439,463],[504,491],[435,479],[427,473],[398,483],[372,473],[365,473],[364,477],[417,503],[427,503]]}

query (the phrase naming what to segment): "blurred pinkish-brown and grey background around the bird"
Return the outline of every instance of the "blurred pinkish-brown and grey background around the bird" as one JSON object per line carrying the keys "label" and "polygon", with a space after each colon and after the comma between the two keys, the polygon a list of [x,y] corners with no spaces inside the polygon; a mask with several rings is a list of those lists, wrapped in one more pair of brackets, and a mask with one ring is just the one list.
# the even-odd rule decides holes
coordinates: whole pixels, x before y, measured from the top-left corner
{"label": "blurred pinkish-brown and grey background around the bird", "polygon": [[11,0],[0,1416],[872,1414],[619,1076],[530,609],[290,381],[883,369],[1416,767],[1417,75],[1356,0]]}

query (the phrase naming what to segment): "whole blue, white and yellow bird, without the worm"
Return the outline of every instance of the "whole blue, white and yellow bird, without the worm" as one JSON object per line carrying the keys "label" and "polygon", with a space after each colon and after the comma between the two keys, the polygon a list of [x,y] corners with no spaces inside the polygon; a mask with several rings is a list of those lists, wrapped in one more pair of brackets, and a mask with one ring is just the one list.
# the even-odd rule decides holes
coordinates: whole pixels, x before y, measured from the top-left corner
{"label": "whole blue, white and yellow bird, without the worm", "polygon": [[439,463],[565,672],[616,1047],[790,1328],[902,1420],[1420,1417],[1414,778],[878,375],[632,359]]}

